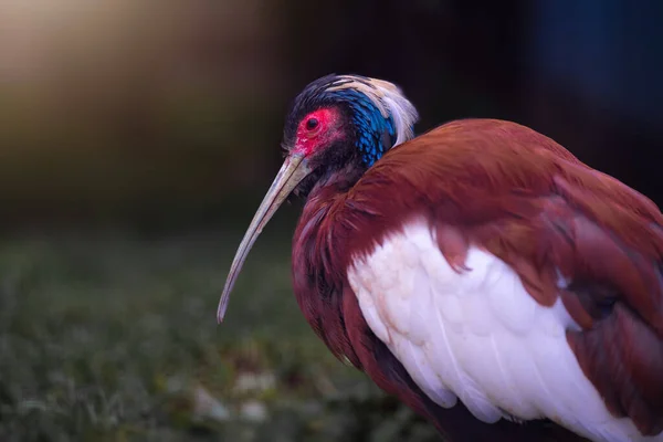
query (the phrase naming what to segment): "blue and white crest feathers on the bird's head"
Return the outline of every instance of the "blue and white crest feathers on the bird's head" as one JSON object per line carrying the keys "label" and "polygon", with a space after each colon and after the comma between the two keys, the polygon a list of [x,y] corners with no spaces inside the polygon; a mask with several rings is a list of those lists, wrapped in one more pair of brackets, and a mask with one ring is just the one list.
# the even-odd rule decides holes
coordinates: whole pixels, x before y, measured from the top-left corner
{"label": "blue and white crest feathers on the bird's head", "polygon": [[285,128],[293,141],[298,122],[315,108],[344,104],[355,126],[355,143],[366,167],[391,147],[413,137],[417,109],[392,83],[359,75],[327,75],[295,98]]}

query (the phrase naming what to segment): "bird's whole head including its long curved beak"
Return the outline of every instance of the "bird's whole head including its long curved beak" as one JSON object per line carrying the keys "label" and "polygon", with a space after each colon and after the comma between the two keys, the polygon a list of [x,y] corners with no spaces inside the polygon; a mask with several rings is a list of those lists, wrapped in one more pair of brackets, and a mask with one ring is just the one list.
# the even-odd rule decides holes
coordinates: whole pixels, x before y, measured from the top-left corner
{"label": "bird's whole head including its long curved beak", "polygon": [[[287,157],[238,249],[218,318],[253,242],[281,203],[295,191],[341,171],[358,178],[390,148],[413,137],[414,106],[392,83],[359,75],[327,75],[308,84],[287,116]],[[351,179],[350,179],[351,180]]]}

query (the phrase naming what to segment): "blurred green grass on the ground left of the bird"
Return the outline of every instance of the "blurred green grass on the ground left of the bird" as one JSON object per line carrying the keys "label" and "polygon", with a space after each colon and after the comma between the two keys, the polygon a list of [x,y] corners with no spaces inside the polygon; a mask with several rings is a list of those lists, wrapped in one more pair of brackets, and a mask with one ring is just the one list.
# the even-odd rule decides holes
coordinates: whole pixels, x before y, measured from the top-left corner
{"label": "blurred green grass on the ground left of the bird", "polygon": [[238,241],[3,240],[0,440],[438,440],[311,332],[290,239],[259,241],[218,326]]}

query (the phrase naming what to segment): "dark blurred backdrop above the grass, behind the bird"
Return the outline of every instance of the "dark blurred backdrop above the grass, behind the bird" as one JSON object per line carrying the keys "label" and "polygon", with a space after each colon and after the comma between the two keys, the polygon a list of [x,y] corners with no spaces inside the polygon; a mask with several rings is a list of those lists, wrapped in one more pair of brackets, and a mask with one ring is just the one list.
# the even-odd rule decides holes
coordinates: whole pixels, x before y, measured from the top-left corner
{"label": "dark blurred backdrop above the grass, behind the bird", "polygon": [[418,130],[513,119],[661,198],[655,1],[29,0],[0,7],[8,228],[224,223],[281,160],[324,74],[402,86]]}

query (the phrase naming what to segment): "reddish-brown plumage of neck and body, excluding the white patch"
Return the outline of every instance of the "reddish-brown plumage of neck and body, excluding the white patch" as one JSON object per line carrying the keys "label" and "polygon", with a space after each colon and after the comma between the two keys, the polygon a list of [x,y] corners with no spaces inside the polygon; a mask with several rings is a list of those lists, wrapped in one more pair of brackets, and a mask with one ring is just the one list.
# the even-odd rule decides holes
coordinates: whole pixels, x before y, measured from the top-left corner
{"label": "reddish-brown plumage of neck and body, excluding the white patch", "polygon": [[367,170],[348,162],[307,186],[293,239],[302,312],[334,355],[450,440],[583,439],[548,420],[487,424],[461,403],[441,408],[371,332],[347,269],[413,217],[428,220],[455,272],[467,271],[473,245],[515,270],[539,305],[561,297],[580,326],[568,344],[608,410],[643,435],[663,431],[663,215],[644,196],[495,119],[445,124]]}

